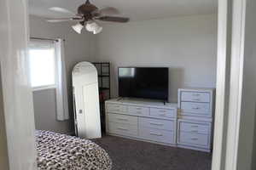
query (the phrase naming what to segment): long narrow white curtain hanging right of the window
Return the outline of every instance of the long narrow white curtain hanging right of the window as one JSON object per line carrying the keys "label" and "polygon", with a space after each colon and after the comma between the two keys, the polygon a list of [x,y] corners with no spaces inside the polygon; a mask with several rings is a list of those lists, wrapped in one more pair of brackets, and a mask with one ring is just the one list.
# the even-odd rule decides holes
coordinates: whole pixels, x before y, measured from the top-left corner
{"label": "long narrow white curtain hanging right of the window", "polygon": [[57,120],[65,121],[69,119],[68,101],[67,101],[67,75],[64,54],[64,42],[58,39],[55,42],[56,54],[56,107]]}

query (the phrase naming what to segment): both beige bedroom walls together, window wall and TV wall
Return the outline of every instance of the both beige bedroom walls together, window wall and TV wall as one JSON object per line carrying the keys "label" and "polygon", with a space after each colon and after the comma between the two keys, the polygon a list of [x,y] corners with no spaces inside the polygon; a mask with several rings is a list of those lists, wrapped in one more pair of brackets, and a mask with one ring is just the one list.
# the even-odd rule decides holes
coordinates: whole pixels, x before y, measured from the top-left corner
{"label": "both beige bedroom walls together, window wall and TV wall", "polygon": [[[170,68],[169,100],[177,101],[177,88],[209,87],[216,82],[217,16],[201,15],[103,25],[102,33],[78,35],[71,24],[50,24],[31,16],[34,37],[66,39],[66,61],[71,95],[71,71],[81,60],[112,63],[112,96],[117,94],[118,66],[167,66]],[[73,124],[55,121],[55,91],[34,92],[36,127],[72,132]],[[69,100],[70,105],[72,101]]]}

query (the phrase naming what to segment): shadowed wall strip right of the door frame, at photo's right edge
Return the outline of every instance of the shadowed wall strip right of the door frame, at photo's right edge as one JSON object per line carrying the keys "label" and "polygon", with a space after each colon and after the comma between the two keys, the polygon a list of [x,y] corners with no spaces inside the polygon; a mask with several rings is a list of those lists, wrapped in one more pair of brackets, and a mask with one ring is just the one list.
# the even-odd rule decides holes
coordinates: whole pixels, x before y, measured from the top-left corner
{"label": "shadowed wall strip right of the door frame, at photo's right edge", "polygon": [[256,169],[256,1],[247,0],[238,170]]}

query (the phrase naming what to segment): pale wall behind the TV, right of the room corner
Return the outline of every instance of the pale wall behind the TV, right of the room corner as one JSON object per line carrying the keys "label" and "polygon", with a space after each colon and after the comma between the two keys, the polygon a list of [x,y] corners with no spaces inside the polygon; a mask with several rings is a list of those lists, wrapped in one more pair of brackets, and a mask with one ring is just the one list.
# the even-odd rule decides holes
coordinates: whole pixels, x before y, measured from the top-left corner
{"label": "pale wall behind the TV, right of the room corner", "polygon": [[169,67],[170,101],[177,101],[177,88],[213,88],[216,55],[216,14],[104,25],[96,37],[96,60],[113,66],[112,97],[119,66]]}

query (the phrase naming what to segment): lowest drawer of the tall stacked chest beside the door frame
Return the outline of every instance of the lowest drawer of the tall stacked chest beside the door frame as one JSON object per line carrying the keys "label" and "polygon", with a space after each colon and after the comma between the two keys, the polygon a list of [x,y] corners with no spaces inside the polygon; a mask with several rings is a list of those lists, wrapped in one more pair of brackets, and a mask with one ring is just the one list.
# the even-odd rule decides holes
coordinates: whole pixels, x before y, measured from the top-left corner
{"label": "lowest drawer of the tall stacked chest beside the door frame", "polygon": [[180,132],[178,143],[207,147],[209,145],[209,136],[207,134]]}

